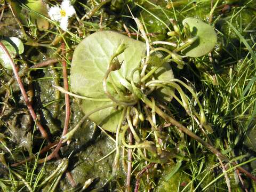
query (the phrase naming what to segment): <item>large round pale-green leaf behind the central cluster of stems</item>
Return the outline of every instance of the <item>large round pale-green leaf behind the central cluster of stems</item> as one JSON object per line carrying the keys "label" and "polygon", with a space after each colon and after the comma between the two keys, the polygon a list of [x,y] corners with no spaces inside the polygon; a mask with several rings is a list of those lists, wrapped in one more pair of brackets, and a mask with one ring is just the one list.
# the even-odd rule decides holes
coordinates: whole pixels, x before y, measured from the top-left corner
{"label": "large round pale-green leaf behind the central cluster of stems", "polygon": [[[120,83],[121,78],[131,81],[132,70],[140,67],[141,59],[145,56],[146,44],[114,31],[99,31],[94,33],[86,37],[76,47],[71,64],[72,91],[85,97],[107,99],[108,97],[102,88],[102,80],[107,71],[111,55],[114,54],[122,42],[127,46],[127,49],[118,55],[118,60],[122,62],[122,66],[119,70],[110,73],[107,86],[109,92],[116,98],[118,94],[113,88],[114,86],[127,91]],[[165,73],[170,73],[166,72],[166,70],[164,71]],[[161,76],[161,74],[158,73],[158,76]],[[139,81],[138,77],[139,72],[137,71],[134,74],[134,82]],[[81,107],[84,113],[87,114],[90,111],[110,105],[111,103],[114,102],[82,100]],[[101,125],[103,129],[116,132],[121,111],[122,108],[116,107],[103,109],[92,114],[90,119]]]}

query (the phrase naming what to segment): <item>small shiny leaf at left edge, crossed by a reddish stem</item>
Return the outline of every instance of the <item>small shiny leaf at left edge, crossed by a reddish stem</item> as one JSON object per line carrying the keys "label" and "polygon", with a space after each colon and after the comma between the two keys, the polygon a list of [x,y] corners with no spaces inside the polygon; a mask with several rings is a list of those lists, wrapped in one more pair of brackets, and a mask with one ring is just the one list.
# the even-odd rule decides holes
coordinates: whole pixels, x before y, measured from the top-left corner
{"label": "small shiny leaf at left edge, crossed by a reddish stem", "polygon": [[[4,44],[12,58],[15,58],[18,54],[22,54],[24,51],[24,45],[17,37],[5,37],[1,42]],[[12,69],[11,62],[2,49],[0,49],[0,62],[5,68]]]}

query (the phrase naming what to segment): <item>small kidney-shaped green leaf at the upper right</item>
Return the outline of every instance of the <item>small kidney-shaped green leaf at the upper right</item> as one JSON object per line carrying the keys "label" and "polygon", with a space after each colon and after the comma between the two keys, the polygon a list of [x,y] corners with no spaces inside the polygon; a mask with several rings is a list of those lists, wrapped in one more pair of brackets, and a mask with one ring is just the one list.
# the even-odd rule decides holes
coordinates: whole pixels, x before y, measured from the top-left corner
{"label": "small kidney-shaped green leaf at the upper right", "polygon": [[183,50],[183,53],[189,57],[201,57],[213,49],[217,43],[217,35],[212,26],[196,18],[186,18],[182,23],[183,25],[188,23],[191,34],[198,36],[198,39]]}

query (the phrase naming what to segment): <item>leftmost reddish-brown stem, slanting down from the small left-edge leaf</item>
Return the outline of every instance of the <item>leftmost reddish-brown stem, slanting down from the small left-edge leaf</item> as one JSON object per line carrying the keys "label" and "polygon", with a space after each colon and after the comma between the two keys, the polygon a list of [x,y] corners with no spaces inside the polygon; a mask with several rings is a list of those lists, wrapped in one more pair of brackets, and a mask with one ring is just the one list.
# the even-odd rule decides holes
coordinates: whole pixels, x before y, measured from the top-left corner
{"label": "leftmost reddish-brown stem, slanting down from the small left-edge leaf", "polygon": [[11,55],[9,54],[9,52],[7,51],[6,47],[4,46],[4,44],[2,42],[0,42],[0,47],[3,49],[4,53],[6,54],[6,56],[9,58],[9,60],[11,62],[13,73],[15,75],[15,78],[17,79],[17,83],[18,83],[18,85],[20,87],[20,91],[21,91],[22,97],[23,97],[23,99],[24,99],[24,101],[25,101],[25,103],[26,103],[26,105],[28,107],[30,115],[34,119],[34,121],[35,121],[36,125],[38,126],[38,129],[41,132],[42,136],[48,142],[50,142],[47,132],[44,130],[44,127],[41,125],[41,123],[37,119],[36,113],[35,113],[33,107],[31,106],[31,103],[30,103],[30,101],[28,99],[28,95],[27,95],[27,93],[26,93],[26,91],[24,89],[23,83],[22,83],[21,78],[20,78],[20,76],[18,74],[18,70],[17,70],[17,68],[15,66],[15,63],[14,63],[13,59],[11,58]]}

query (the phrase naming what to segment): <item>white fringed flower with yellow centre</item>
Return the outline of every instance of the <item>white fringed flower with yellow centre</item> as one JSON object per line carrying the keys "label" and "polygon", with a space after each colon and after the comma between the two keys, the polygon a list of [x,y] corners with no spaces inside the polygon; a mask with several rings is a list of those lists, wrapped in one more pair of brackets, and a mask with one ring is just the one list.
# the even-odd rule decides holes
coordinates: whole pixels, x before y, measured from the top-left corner
{"label": "white fringed flower with yellow centre", "polygon": [[60,22],[60,28],[65,31],[68,30],[68,18],[75,13],[76,11],[69,0],[63,0],[60,6],[55,5],[48,10],[50,18]]}

